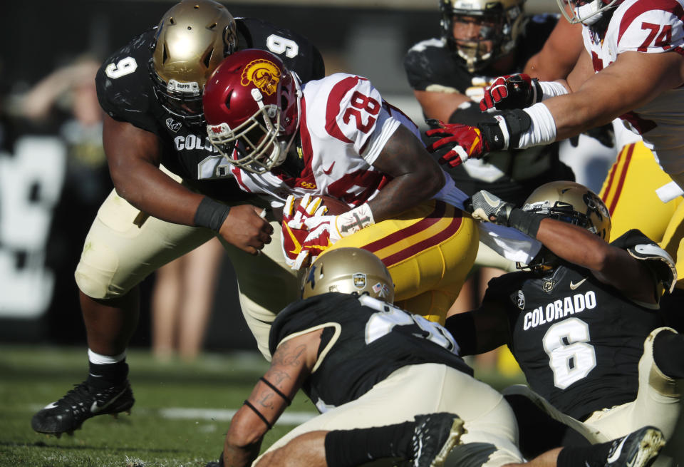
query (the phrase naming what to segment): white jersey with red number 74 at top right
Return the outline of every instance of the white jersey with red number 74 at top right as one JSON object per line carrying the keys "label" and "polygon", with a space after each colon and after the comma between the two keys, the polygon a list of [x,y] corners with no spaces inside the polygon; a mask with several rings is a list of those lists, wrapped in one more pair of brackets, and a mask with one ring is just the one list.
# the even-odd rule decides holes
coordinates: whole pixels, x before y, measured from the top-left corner
{"label": "white jersey with red number 74 at top right", "polygon": [[[684,0],[624,1],[613,13],[603,41],[588,26],[583,28],[594,71],[606,68],[627,51],[684,55],[683,19]],[[642,135],[665,172],[684,172],[684,87],[665,91],[620,118],[627,128]]]}

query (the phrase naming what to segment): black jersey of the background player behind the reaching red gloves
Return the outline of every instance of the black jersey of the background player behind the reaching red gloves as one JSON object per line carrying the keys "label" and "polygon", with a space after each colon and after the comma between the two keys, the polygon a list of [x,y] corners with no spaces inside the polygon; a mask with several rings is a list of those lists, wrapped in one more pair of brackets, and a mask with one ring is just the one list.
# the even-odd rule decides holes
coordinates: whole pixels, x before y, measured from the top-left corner
{"label": "black jersey of the background player behind the reaching red gloves", "polygon": [[[537,53],[556,25],[556,16],[537,15],[526,19],[522,33],[515,48],[517,68],[509,73],[517,73],[527,60]],[[455,89],[467,94],[472,86],[483,86],[497,78],[500,73],[484,68],[470,73],[465,61],[452,53],[439,38],[421,41],[406,53],[404,68],[408,82],[415,91],[426,91],[429,86]],[[482,120],[477,103],[457,113],[457,123],[475,125]],[[486,155],[482,162],[492,165],[498,171],[480,168],[480,161],[467,165],[447,168],[458,188],[468,195],[479,190],[487,190],[515,205],[522,205],[534,188],[551,180],[574,180],[572,170],[561,163],[558,143],[535,146],[526,150],[509,150]],[[445,148],[446,150],[446,148]],[[512,154],[521,159],[524,169],[514,170]],[[440,153],[436,154],[437,156]]]}

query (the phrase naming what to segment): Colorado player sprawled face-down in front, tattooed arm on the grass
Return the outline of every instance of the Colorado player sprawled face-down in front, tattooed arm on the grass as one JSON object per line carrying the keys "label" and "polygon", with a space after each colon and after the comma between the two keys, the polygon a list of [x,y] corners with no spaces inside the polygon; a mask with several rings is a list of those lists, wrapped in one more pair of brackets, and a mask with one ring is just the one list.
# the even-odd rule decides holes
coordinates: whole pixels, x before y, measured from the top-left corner
{"label": "Colorado player sprawled face-down in front, tattooed arm on the grass", "polygon": [[[271,327],[271,367],[233,417],[219,465],[351,467],[379,458],[419,467],[523,463],[502,395],[472,377],[443,327],[393,306],[392,281],[367,250],[338,248],[318,257],[303,298]],[[257,458],[264,434],[300,388],[321,415]],[[641,467],[662,446],[660,431],[644,427],[615,443],[556,448],[529,466],[630,461]]]}

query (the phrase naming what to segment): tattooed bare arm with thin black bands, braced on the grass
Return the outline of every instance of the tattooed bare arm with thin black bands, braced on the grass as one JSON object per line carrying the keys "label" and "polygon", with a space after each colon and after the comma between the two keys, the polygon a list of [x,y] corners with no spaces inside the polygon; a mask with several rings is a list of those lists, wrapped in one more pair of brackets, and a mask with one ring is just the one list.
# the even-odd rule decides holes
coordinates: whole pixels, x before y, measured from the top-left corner
{"label": "tattooed bare arm with thin black bands, braced on the grass", "polygon": [[266,431],[285,411],[316,364],[322,329],[281,342],[271,367],[230,422],[224,443],[225,466],[246,467],[259,456]]}

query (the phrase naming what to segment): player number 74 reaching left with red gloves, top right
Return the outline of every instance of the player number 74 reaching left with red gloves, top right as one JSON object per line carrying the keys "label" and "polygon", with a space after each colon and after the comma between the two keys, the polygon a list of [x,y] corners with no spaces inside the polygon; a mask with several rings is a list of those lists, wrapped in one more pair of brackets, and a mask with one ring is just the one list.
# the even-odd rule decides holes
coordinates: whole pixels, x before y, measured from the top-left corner
{"label": "player number 74 reaching left with red gloves, top right", "polygon": [[[546,144],[621,118],[628,129],[641,134],[675,182],[670,185],[673,196],[680,195],[684,2],[569,0],[569,4],[571,15],[562,7],[561,11],[571,23],[582,24],[587,52],[579,56],[569,76],[552,82],[520,76],[497,79],[484,93],[480,107],[502,113],[474,126],[445,124],[430,130],[431,135],[443,137],[432,148],[456,143],[443,160],[457,165],[492,150]],[[671,254],[684,248],[678,237],[668,243]]]}

